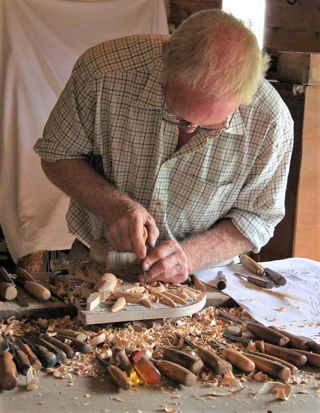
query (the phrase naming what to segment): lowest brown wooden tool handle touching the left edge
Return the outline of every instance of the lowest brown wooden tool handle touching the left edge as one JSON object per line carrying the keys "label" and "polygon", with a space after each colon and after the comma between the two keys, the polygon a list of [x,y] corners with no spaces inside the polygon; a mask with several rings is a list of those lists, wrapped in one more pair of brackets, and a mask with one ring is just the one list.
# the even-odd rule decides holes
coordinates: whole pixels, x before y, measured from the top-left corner
{"label": "lowest brown wooden tool handle touching the left edge", "polygon": [[6,337],[1,341],[0,352],[0,387],[3,390],[12,390],[16,386],[18,373],[13,361],[13,355],[9,352]]}

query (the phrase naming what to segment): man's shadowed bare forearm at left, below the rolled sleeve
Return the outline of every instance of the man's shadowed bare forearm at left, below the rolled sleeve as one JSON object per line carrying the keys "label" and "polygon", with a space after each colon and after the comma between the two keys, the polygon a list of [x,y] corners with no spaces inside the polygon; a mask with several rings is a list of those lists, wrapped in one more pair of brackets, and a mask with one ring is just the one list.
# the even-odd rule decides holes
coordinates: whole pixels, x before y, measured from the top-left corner
{"label": "man's shadowed bare forearm at left, below the rolled sleeve", "polygon": [[47,178],[79,205],[90,212],[110,219],[112,210],[131,199],[105,178],[97,174],[84,159],[66,159],[56,162],[41,160]]}

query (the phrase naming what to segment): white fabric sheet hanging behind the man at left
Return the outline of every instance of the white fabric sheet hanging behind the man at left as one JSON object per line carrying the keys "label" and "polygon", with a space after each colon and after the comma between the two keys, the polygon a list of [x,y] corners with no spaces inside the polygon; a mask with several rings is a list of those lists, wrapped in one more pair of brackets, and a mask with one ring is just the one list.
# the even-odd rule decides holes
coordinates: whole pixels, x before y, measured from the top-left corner
{"label": "white fabric sheet hanging behind the man at left", "polygon": [[136,33],[168,33],[163,0],[0,0],[0,223],[14,260],[70,247],[68,197],[32,146],[78,56]]}

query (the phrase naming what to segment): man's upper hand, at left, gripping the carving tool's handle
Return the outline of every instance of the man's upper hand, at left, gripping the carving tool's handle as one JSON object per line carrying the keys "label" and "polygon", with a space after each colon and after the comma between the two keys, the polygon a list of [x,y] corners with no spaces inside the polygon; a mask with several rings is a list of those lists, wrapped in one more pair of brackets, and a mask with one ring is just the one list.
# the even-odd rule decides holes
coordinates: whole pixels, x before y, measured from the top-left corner
{"label": "man's upper hand, at left, gripping the carving tool's handle", "polygon": [[138,202],[130,200],[118,204],[108,219],[105,237],[115,251],[132,251],[140,259],[146,255],[143,242],[143,225],[148,231],[147,242],[152,248],[159,236],[159,230],[148,211]]}

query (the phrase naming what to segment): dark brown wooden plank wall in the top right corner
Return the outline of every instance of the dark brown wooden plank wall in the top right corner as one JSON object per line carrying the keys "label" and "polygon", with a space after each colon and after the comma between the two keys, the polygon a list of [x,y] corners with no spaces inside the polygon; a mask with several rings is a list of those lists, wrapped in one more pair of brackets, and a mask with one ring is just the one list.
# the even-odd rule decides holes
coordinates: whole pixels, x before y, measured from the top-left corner
{"label": "dark brown wooden plank wall in the top right corner", "polygon": [[320,0],[265,0],[263,46],[320,52]]}

